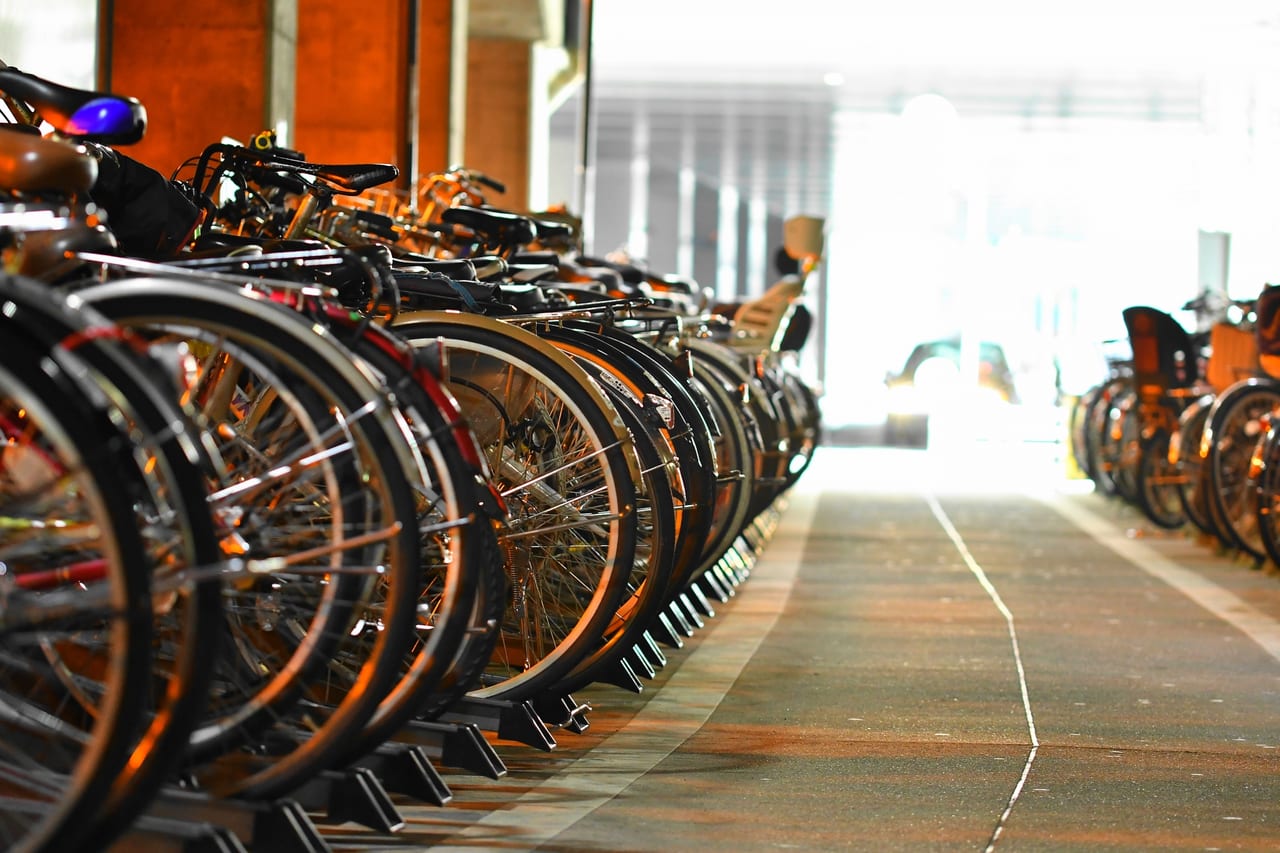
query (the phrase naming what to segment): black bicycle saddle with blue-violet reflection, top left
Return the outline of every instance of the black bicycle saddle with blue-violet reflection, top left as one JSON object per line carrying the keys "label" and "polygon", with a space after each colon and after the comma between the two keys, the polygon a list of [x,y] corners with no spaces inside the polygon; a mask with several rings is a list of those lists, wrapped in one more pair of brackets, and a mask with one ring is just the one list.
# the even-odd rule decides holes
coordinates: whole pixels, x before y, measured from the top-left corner
{"label": "black bicycle saddle with blue-violet reflection, top left", "polygon": [[0,68],[0,91],[26,101],[59,133],[104,145],[132,145],[147,129],[147,111],[133,97],[59,86],[47,79]]}

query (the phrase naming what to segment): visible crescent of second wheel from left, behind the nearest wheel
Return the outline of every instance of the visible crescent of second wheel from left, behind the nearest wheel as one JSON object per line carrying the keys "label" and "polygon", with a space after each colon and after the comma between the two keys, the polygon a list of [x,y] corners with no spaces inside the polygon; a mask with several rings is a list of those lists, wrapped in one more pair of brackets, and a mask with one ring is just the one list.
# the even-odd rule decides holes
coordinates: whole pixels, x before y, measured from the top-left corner
{"label": "visible crescent of second wheel from left, behind the nearest wheel", "polygon": [[[166,364],[152,360],[87,306],[72,307],[46,286],[4,282],[10,306],[26,323],[60,337],[83,378],[115,405],[124,447],[145,488],[132,498],[146,547],[155,602],[155,660],[150,689],[133,697],[147,727],[118,774],[95,835],[122,831],[175,770],[191,726],[204,712],[218,653],[223,555],[207,507],[211,460],[173,402]],[[136,342],[128,342],[136,343]],[[168,355],[168,353],[166,353]],[[88,820],[88,816],[84,816]]]}

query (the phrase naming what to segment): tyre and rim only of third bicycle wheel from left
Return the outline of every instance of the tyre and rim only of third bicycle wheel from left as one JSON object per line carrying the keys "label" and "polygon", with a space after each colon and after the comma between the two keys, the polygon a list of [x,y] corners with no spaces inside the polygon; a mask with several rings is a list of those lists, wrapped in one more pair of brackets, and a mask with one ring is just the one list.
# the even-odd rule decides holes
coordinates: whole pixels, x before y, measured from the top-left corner
{"label": "tyre and rim only of third bicycle wheel from left", "polygon": [[[355,489],[339,489],[338,493],[346,512],[344,526],[364,516],[370,525],[369,533],[378,540],[349,548],[347,543],[362,542],[356,535],[360,530],[343,532],[321,560],[329,558],[326,569],[338,575],[346,574],[343,567],[347,565],[380,566],[376,573],[376,588],[381,590],[378,602],[370,605],[364,599],[375,584],[361,581],[362,602],[357,605],[366,608],[369,620],[361,617],[366,628],[376,630],[351,631],[343,625],[334,638],[342,643],[338,647],[340,654],[303,662],[292,671],[296,680],[288,690],[256,694],[255,698],[262,703],[247,712],[248,717],[265,722],[276,716],[271,701],[288,693],[301,698],[300,690],[305,689],[310,701],[324,708],[319,715],[323,717],[319,727],[306,736],[292,739],[292,749],[274,756],[269,765],[247,775],[228,779],[214,774],[218,777],[215,790],[221,794],[247,798],[283,795],[317,770],[330,766],[347,748],[349,738],[364,729],[397,683],[403,649],[413,639],[419,542],[413,496],[403,459],[408,430],[394,407],[381,397],[380,387],[360,371],[346,348],[315,324],[265,296],[225,286],[197,286],[189,280],[160,278],[110,282],[86,288],[79,295],[125,328],[145,327],[166,334],[179,330],[196,338],[204,334],[223,342],[234,341],[244,351],[256,347],[259,352],[270,352],[275,360],[289,366],[292,375],[306,378],[311,391],[320,393],[323,389],[325,400],[334,406],[330,418],[337,419],[335,424],[340,421],[339,432],[346,437],[337,451],[349,457],[346,461],[365,469],[364,474],[348,476],[347,485],[360,483],[362,489],[374,489],[367,497],[361,497],[364,492],[357,496]],[[335,457],[337,452],[326,464],[334,464]],[[338,502],[330,502],[329,507],[338,508]],[[333,560],[349,562],[335,565]],[[320,674],[325,675],[325,680],[312,678]],[[225,748],[242,739],[248,730],[233,729],[241,729],[247,717],[242,713],[236,720],[204,726],[204,743]]]}

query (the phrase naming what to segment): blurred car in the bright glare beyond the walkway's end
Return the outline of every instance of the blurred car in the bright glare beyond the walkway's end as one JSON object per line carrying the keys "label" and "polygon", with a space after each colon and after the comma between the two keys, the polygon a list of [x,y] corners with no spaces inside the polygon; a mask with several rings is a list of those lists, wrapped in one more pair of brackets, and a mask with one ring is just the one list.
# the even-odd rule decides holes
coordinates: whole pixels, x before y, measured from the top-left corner
{"label": "blurred car in the bright glare beyond the walkway's end", "polygon": [[923,447],[928,442],[929,415],[1018,402],[1004,347],[979,342],[977,374],[972,377],[961,373],[960,350],[959,337],[925,341],[915,345],[901,371],[886,374],[887,443]]}

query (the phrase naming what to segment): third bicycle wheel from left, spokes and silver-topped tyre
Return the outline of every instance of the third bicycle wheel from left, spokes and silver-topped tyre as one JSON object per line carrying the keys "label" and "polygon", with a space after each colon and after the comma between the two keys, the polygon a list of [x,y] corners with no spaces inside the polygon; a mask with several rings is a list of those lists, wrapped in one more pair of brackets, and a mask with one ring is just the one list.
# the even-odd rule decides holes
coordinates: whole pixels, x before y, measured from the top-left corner
{"label": "third bicycle wheel from left, spokes and silver-topped tyre", "polygon": [[[202,425],[227,470],[212,493],[229,542],[260,570],[233,584],[209,760],[306,712],[292,749],[248,774],[197,767],[214,790],[274,797],[324,768],[376,712],[413,639],[419,593],[407,426],[351,353],[262,295],[136,279],[81,297],[155,345],[195,342]],[[307,699],[298,708],[298,702]]]}

